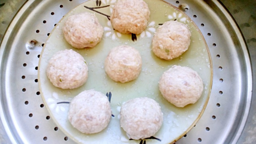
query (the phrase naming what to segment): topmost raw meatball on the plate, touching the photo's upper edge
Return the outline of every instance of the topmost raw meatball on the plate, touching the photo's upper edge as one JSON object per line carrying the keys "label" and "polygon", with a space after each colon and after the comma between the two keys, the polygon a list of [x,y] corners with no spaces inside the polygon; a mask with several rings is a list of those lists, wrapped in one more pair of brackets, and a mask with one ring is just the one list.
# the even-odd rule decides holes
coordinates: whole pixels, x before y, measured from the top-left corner
{"label": "topmost raw meatball on the plate, touching the photo's upper edge", "polygon": [[143,0],[118,0],[110,16],[120,33],[140,34],[147,27],[150,11]]}

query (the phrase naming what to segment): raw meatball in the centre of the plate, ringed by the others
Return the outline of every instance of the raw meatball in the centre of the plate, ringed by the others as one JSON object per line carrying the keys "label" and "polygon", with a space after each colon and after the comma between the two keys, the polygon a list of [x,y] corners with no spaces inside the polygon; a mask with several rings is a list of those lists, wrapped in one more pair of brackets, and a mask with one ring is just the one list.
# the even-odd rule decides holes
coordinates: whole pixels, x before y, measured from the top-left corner
{"label": "raw meatball in the centre of the plate, ringed by the others", "polygon": [[139,51],[130,46],[113,48],[105,60],[105,72],[116,82],[125,83],[136,79],[141,71]]}

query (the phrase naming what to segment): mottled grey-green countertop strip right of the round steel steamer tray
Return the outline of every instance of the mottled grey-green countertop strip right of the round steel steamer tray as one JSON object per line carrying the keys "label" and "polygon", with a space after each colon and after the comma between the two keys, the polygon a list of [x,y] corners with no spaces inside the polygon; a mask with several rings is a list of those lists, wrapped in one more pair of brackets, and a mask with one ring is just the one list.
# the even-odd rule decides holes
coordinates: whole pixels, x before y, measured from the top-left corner
{"label": "mottled grey-green countertop strip right of the round steel steamer tray", "polygon": [[251,58],[253,70],[253,95],[243,133],[237,143],[256,143],[256,1],[223,1],[240,27]]}

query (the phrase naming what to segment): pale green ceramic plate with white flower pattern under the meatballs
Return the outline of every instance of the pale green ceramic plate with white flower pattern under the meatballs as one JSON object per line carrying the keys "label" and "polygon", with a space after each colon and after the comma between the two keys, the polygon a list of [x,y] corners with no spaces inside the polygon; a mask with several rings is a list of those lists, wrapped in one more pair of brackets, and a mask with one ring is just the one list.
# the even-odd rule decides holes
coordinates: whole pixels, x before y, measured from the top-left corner
{"label": "pale green ceramic plate with white flower pattern under the meatballs", "polygon": [[[139,35],[121,34],[113,30],[109,16],[116,0],[87,1],[67,13],[51,32],[40,56],[38,79],[42,98],[51,117],[58,127],[79,143],[113,144],[134,143],[146,141],[147,144],[172,143],[186,134],[199,120],[207,105],[212,85],[212,66],[206,42],[193,21],[176,7],[161,0],[145,0],[151,11],[147,28]],[[99,5],[100,4],[100,5]],[[85,6],[85,7],[84,7]],[[75,49],[63,37],[62,26],[69,15],[81,12],[95,13],[104,28],[102,41],[95,48]],[[189,49],[180,57],[171,61],[162,60],[151,51],[151,40],[159,24],[169,20],[177,20],[188,26],[191,31]],[[104,71],[104,61],[109,51],[119,45],[129,45],[136,48],[142,57],[142,71],[136,80],[128,83],[117,83],[111,80]],[[89,68],[87,82],[80,88],[63,90],[54,87],[46,75],[49,59],[60,50],[73,49],[86,60]],[[162,73],[173,65],[188,66],[197,71],[203,79],[204,91],[195,104],[184,108],[177,108],[167,102],[161,95],[158,81]],[[115,117],[112,117],[108,127],[97,134],[82,134],[72,127],[68,121],[68,103],[78,93],[94,89],[102,93],[112,93],[111,108]],[[123,102],[135,97],[150,97],[161,106],[164,121],[161,129],[154,137],[146,140],[129,140],[126,133],[120,128],[119,111]]]}

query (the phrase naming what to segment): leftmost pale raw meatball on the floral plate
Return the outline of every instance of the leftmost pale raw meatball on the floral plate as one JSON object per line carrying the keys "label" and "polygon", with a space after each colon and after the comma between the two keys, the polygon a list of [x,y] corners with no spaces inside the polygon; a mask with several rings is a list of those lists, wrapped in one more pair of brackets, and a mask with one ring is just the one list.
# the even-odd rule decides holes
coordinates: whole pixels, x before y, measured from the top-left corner
{"label": "leftmost pale raw meatball on the floral plate", "polygon": [[46,74],[55,87],[75,89],[86,82],[88,67],[79,53],[63,50],[55,53],[49,60]]}

